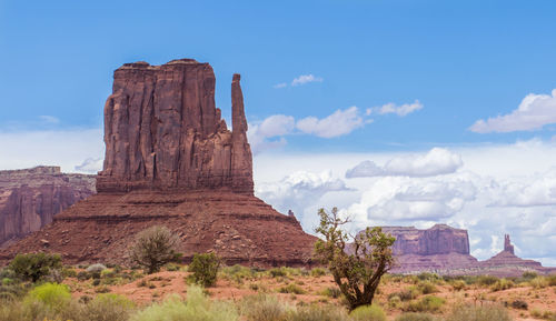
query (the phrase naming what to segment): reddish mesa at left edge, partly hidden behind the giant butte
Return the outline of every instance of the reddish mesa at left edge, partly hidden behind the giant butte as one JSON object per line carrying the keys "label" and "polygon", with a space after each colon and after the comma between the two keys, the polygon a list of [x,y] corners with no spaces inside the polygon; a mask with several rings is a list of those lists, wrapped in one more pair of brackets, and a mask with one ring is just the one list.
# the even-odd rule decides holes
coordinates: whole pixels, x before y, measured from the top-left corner
{"label": "reddish mesa at left edge, partly hidden behind the giant butte", "polygon": [[0,171],[0,247],[93,193],[95,175],[67,174],[59,167]]}

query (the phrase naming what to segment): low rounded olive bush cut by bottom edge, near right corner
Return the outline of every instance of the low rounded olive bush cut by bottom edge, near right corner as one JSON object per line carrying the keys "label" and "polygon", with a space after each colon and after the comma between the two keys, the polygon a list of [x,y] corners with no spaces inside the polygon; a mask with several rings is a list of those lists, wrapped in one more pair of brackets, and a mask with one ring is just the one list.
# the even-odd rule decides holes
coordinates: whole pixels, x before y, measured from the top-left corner
{"label": "low rounded olive bush cut by bottom edge, near right corner", "polygon": [[446,321],[512,321],[508,311],[498,304],[455,305]]}

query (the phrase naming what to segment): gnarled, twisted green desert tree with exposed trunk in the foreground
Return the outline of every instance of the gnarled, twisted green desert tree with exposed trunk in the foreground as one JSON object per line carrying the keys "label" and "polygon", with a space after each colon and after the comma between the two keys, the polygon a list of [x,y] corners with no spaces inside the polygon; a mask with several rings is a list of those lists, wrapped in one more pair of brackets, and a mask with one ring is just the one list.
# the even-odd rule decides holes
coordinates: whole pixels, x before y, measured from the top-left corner
{"label": "gnarled, twisted green desert tree with exposed trunk in the foreground", "polygon": [[353,238],[348,253],[346,243],[350,238],[341,230],[348,220],[340,219],[337,208],[331,214],[320,209],[318,214],[320,223],[316,232],[322,239],[315,243],[315,258],[327,264],[349,310],[371,304],[380,278],[394,264],[391,245],[396,238],[383,233],[379,227],[367,228]]}

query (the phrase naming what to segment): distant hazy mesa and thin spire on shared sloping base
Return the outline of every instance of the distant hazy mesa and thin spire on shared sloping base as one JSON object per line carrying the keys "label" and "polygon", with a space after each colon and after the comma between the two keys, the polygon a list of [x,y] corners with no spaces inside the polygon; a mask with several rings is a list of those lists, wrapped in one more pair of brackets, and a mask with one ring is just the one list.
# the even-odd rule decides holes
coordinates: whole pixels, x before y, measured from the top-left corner
{"label": "distant hazy mesa and thin spire on shared sloping base", "polygon": [[391,270],[394,273],[518,277],[525,271],[556,271],[555,268],[545,268],[539,262],[516,257],[507,234],[500,253],[486,261],[478,261],[469,253],[469,237],[466,230],[436,224],[425,230],[414,227],[384,227],[383,231],[396,237],[394,255],[397,265]]}

